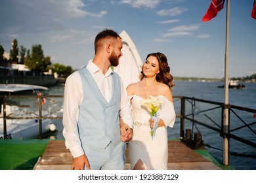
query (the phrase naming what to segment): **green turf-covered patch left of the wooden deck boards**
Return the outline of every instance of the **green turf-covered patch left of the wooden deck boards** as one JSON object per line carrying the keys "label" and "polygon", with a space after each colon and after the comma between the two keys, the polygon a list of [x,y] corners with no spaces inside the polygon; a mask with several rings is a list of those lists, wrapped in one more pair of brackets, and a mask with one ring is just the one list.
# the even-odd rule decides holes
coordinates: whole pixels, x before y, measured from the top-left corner
{"label": "green turf-covered patch left of the wooden deck boards", "polygon": [[49,139],[0,139],[0,170],[32,170]]}

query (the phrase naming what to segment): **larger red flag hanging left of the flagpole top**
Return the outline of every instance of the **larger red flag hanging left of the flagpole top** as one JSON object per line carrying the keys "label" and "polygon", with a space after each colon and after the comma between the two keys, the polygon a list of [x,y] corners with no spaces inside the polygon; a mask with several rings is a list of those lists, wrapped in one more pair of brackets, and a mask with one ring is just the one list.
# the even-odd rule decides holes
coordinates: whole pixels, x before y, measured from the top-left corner
{"label": "larger red flag hanging left of the flagpole top", "polygon": [[215,18],[217,13],[223,9],[224,2],[224,0],[212,0],[210,7],[202,18],[202,21],[208,22],[211,18]]}

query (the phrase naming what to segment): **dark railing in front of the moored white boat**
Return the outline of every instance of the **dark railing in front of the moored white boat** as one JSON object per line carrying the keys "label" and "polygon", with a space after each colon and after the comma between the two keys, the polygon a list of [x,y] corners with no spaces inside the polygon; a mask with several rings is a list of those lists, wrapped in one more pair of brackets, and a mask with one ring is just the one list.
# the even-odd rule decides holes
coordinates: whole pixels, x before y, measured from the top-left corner
{"label": "dark railing in front of the moored white boat", "polygon": [[7,133],[7,120],[37,120],[38,138],[43,139],[42,120],[62,120],[63,97],[63,95],[0,95],[3,139],[10,139]]}

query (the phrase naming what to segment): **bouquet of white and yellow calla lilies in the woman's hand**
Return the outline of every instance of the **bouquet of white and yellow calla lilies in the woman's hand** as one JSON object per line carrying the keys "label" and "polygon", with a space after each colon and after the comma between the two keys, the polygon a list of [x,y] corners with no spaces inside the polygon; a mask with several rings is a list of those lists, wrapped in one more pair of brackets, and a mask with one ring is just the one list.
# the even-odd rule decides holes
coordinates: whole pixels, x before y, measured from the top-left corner
{"label": "bouquet of white and yellow calla lilies in the woman's hand", "polygon": [[158,127],[158,122],[160,120],[160,118],[158,118],[158,109],[163,104],[163,100],[160,99],[160,97],[153,97],[152,95],[150,95],[148,99],[140,100],[140,105],[146,107],[146,109],[148,110],[148,112],[150,112],[150,115],[152,116],[152,120],[154,120],[154,127],[152,127],[150,131],[152,140],[156,135],[156,129]]}

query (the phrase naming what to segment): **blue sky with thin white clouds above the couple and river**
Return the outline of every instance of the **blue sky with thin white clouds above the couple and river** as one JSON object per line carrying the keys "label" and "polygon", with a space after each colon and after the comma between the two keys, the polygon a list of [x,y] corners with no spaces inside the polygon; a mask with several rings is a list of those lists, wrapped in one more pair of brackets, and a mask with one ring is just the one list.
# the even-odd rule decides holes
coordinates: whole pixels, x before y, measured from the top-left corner
{"label": "blue sky with thin white clouds above the couple and river", "polygon": [[202,17],[211,0],[1,0],[0,45],[27,49],[41,44],[52,63],[79,69],[93,59],[94,39],[105,28],[125,30],[142,61],[151,52],[167,56],[173,76],[224,78],[256,73],[253,0],[230,1],[229,48],[226,2],[209,22]]}

